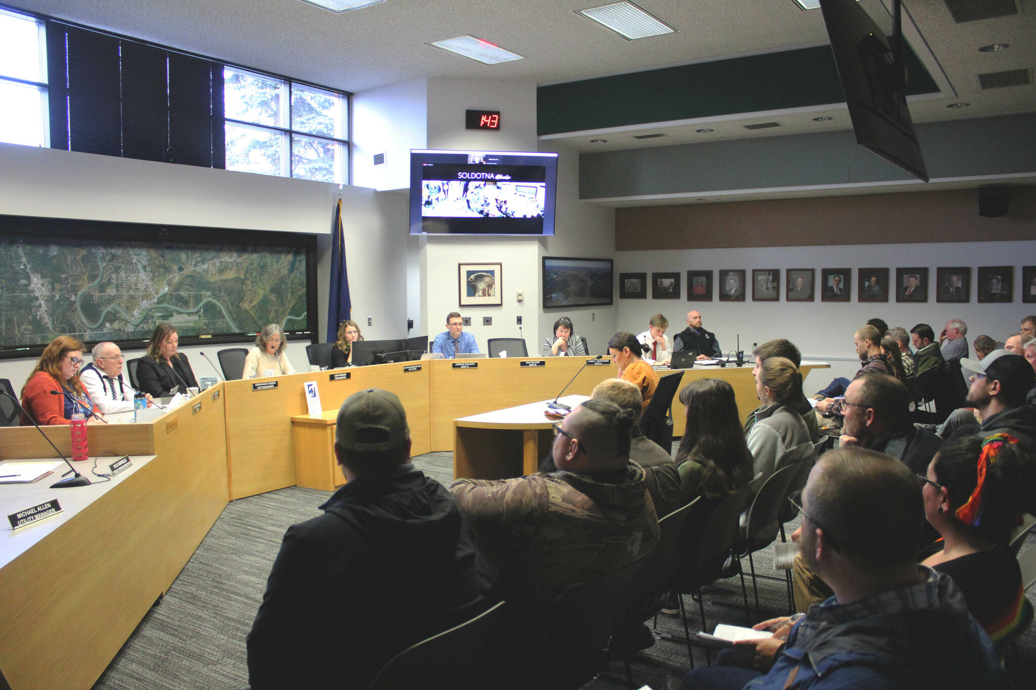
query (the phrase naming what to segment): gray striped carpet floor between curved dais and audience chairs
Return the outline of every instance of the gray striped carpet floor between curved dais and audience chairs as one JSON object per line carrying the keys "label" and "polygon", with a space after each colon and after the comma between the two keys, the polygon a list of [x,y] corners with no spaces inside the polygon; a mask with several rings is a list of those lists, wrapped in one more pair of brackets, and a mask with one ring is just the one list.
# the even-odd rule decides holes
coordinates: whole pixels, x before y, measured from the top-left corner
{"label": "gray striped carpet floor between curved dais and audience chairs", "polygon": [[[428,476],[449,485],[453,481],[451,453],[429,453],[414,458]],[[231,502],[173,582],[161,603],[151,608],[137,630],[97,681],[96,689],[125,690],[231,690],[248,686],[244,636],[262,600],[274,558],[285,530],[319,513],[326,491],[297,487],[270,491]],[[1024,548],[1036,548],[1030,537]],[[755,559],[756,573],[781,575],[770,569],[768,551]],[[747,569],[747,561],[745,567]],[[758,580],[762,619],[787,613],[783,581]],[[1030,601],[1036,604],[1034,593]],[[748,591],[752,600],[751,582]],[[716,623],[745,625],[738,577],[709,588],[704,593],[706,629]],[[722,606],[725,602],[733,606]],[[697,603],[685,597],[689,625],[701,630]],[[754,611],[751,616],[755,618]],[[663,632],[683,634],[679,618],[659,617]],[[694,650],[694,663],[704,664],[703,650]],[[682,676],[689,667],[684,644],[658,641],[633,662],[634,687],[665,688],[667,674]],[[1019,688],[1036,687],[1036,630],[1019,643],[1014,667]],[[612,690],[628,687],[623,665],[612,662],[586,688]]]}

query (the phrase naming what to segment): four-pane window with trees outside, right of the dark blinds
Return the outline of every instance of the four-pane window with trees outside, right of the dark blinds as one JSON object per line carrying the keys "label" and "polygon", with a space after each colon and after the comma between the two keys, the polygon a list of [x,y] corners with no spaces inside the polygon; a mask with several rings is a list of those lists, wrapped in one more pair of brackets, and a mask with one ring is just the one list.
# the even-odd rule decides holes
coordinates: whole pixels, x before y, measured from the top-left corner
{"label": "four-pane window with trees outside, right of the dark blinds", "polygon": [[348,182],[344,93],[236,67],[223,83],[227,170]]}

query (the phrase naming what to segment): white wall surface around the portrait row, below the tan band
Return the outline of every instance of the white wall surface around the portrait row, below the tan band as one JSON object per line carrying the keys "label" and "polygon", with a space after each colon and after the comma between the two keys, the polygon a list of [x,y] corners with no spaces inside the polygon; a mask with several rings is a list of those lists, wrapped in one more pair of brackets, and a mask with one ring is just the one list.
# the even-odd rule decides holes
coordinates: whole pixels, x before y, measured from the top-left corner
{"label": "white wall surface around the portrait row, below the tan band", "polygon": [[[620,251],[615,271],[651,273],[681,272],[680,299],[653,300],[649,288],[646,300],[618,301],[618,327],[634,333],[648,327],[652,314],[661,312],[669,320],[669,333],[682,331],[687,312],[701,312],[707,329],[716,333],[723,350],[735,347],[736,336],[741,335],[741,346],[746,356],[753,342],[772,338],[788,338],[802,351],[805,359],[831,360],[831,371],[816,371],[809,377],[807,392],[821,388],[834,376],[852,377],[859,368],[853,348],[853,334],[868,319],[879,317],[890,326],[902,326],[908,331],[918,323],[932,327],[938,336],[946,322],[960,318],[968,324],[968,341],[978,335],[989,335],[1003,340],[1018,330],[1021,317],[1036,311],[1031,304],[1020,303],[1020,266],[1032,264],[1036,257],[1036,241],[1019,242],[947,242],[941,244],[863,244],[842,246],[762,247],[727,249],[685,249],[679,251]],[[978,266],[1015,266],[1013,304],[979,304],[977,300]],[[856,286],[859,268],[886,267],[890,281],[895,280],[896,267],[928,267],[929,301],[923,304],[858,303]],[[936,302],[932,286],[936,269],[940,266],[972,267],[972,301],[966,304]],[[816,293],[815,302],[785,302],[785,268],[813,268],[816,282],[822,268],[853,268],[852,301],[822,302]],[[751,294],[745,302],[688,302],[688,270],[744,269],[746,281],[751,282],[752,269],[780,268],[781,301],[753,302]],[[717,288],[714,288],[714,294]],[[843,362],[835,361],[840,358]],[[821,381],[823,380],[823,381]]]}

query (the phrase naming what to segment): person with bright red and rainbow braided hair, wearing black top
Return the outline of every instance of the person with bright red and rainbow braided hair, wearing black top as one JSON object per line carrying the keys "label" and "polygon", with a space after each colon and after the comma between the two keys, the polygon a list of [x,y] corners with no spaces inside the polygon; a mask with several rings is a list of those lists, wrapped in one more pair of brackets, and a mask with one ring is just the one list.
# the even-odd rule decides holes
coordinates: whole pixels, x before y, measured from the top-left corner
{"label": "person with bright red and rainbow braided hair, wearing black top", "polygon": [[924,516],[943,537],[921,562],[953,578],[994,644],[1026,623],[1021,570],[1008,546],[1036,513],[1034,464],[1006,433],[965,437],[940,449],[923,479]]}

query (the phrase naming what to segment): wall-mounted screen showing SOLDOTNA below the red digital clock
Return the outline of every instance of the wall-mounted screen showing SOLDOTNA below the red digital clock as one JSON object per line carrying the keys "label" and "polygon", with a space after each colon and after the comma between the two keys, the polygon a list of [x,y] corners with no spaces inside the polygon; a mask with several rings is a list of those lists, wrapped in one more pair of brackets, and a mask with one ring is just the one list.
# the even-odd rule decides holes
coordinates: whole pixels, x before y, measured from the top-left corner
{"label": "wall-mounted screen showing SOLDOTNA below the red digital clock", "polygon": [[410,151],[411,235],[553,235],[556,153]]}

